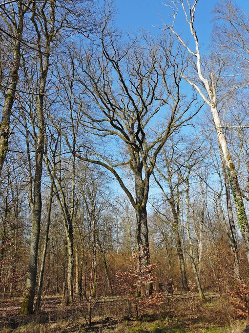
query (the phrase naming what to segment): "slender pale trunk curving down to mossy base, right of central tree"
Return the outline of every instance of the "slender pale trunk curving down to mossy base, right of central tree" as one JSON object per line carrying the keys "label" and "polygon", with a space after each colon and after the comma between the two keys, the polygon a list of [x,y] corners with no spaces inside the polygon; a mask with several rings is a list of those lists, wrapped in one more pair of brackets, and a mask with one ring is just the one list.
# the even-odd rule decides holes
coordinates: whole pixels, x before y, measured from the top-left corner
{"label": "slender pale trunk curving down to mossy base, right of central tree", "polygon": [[196,262],[194,259],[194,251],[193,251],[193,242],[192,242],[192,238],[191,238],[191,234],[190,234],[190,229],[189,229],[189,224],[190,224],[190,206],[189,206],[189,180],[188,180],[188,176],[186,179],[186,185],[187,185],[187,189],[186,189],[186,204],[187,204],[187,225],[186,225],[186,231],[187,231],[187,238],[188,238],[188,242],[189,242],[189,253],[190,253],[190,259],[191,259],[191,263],[192,263],[192,267],[193,267],[193,272],[194,272],[194,277],[195,277],[195,281],[196,281],[196,285],[199,291],[199,295],[201,300],[206,300],[206,297],[203,293],[202,290],[202,285],[200,283],[200,278],[199,278],[199,274],[198,274],[198,269],[196,266]]}

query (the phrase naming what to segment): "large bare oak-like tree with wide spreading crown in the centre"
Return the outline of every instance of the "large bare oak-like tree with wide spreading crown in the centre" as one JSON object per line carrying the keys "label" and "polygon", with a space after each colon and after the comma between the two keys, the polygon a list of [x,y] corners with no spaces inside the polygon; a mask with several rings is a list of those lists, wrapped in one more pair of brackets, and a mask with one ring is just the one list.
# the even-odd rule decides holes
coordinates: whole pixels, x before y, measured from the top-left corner
{"label": "large bare oak-like tree with wide spreading crown in the centre", "polygon": [[[144,38],[141,47],[133,41],[121,48],[118,38],[105,27],[100,37],[102,47],[82,48],[77,59],[78,87],[86,96],[82,100],[83,126],[90,138],[103,139],[99,144],[104,153],[98,143],[87,148],[78,141],[75,156],[109,170],[125,191],[136,212],[143,266],[150,262],[146,205],[157,155],[168,137],[191,119],[199,106],[194,107],[195,97],[187,101],[181,93],[180,74],[187,59],[181,48],[175,49],[173,40],[157,44]],[[154,131],[152,123],[164,106],[166,124]],[[192,106],[194,111],[189,112]],[[115,154],[108,149],[113,144],[111,138],[122,146],[122,152]],[[122,169],[133,176],[134,196],[122,179]],[[151,292],[152,285],[148,289]]]}

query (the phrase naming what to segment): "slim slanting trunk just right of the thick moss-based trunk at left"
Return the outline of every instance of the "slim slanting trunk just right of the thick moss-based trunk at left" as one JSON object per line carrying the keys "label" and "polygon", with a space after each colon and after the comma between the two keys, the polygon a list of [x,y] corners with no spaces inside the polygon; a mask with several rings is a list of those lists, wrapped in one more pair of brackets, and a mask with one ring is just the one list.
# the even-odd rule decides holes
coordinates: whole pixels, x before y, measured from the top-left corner
{"label": "slim slanting trunk just right of the thick moss-based trunk at left", "polygon": [[44,240],[43,252],[42,252],[41,271],[40,271],[37,300],[36,300],[36,311],[37,312],[39,312],[40,308],[41,308],[42,285],[43,285],[43,275],[44,275],[44,268],[45,268],[47,244],[48,244],[48,239],[49,239],[48,235],[49,235],[50,216],[51,216],[51,209],[52,209],[53,188],[54,188],[54,180],[52,180],[52,182],[51,182],[50,193],[49,193],[49,203],[48,203],[48,210],[47,210],[47,224],[46,224],[45,240]]}

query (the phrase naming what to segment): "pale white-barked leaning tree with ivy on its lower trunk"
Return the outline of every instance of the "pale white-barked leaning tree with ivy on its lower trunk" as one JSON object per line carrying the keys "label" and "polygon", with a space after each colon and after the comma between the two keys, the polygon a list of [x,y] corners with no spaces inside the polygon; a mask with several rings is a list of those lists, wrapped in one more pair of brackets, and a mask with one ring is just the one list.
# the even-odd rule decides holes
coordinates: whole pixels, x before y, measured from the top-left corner
{"label": "pale white-barked leaning tree with ivy on its lower trunk", "polygon": [[[238,224],[245,242],[246,253],[249,261],[249,223],[245,210],[245,205],[243,202],[243,196],[241,192],[241,187],[238,182],[238,175],[236,167],[233,162],[233,158],[230,154],[227,138],[224,132],[224,126],[222,125],[217,100],[217,81],[220,78],[220,72],[213,73],[212,71],[204,71],[204,63],[201,57],[201,51],[199,47],[198,34],[195,30],[195,11],[197,7],[198,0],[195,0],[193,4],[190,4],[187,0],[187,4],[183,0],[180,1],[170,1],[170,7],[173,10],[173,23],[172,25],[165,24],[165,30],[170,30],[179,40],[180,44],[188,51],[189,55],[192,57],[193,62],[196,66],[197,77],[193,80],[187,77],[185,74],[181,76],[186,80],[189,85],[194,87],[199,95],[203,98],[207,106],[210,108],[210,113],[212,115],[213,123],[215,125],[215,130],[217,134],[217,140],[221,147],[224,161],[226,164],[229,184],[232,192],[232,196],[236,205],[236,213]],[[186,18],[186,23],[188,24],[191,36],[194,42],[194,48],[192,49],[187,45],[187,43],[181,38],[181,36],[174,29],[174,23],[176,20],[178,4],[182,7],[183,13]],[[195,74],[195,73],[194,73]]]}

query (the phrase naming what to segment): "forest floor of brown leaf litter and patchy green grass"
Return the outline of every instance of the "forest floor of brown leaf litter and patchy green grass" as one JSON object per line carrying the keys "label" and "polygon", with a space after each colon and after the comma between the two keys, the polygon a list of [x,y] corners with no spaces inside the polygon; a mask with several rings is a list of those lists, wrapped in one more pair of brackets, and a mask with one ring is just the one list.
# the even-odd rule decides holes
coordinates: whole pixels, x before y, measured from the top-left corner
{"label": "forest floor of brown leaf litter and patchy green grass", "polygon": [[[121,297],[103,297],[94,307],[92,324],[85,321],[83,301],[61,305],[61,296],[43,299],[40,315],[23,316],[18,311],[21,297],[0,299],[1,333],[249,333],[245,320],[228,319],[218,294],[207,293],[208,302],[197,295],[169,297],[174,310],[151,314],[135,320],[124,316],[127,302]],[[122,315],[123,313],[123,315]]]}

